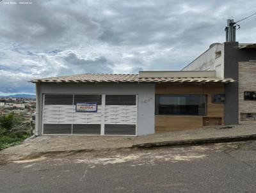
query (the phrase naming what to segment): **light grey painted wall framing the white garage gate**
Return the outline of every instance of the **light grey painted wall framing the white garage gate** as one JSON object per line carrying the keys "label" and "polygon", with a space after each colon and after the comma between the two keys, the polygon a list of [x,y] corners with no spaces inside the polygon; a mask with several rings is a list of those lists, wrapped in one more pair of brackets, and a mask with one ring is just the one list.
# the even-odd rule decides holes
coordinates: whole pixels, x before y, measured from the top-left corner
{"label": "light grey painted wall framing the white garage gate", "polygon": [[38,82],[37,106],[39,116],[36,134],[42,132],[42,95],[56,94],[136,94],[138,95],[138,135],[153,134],[155,118],[155,84],[138,83],[44,83]]}

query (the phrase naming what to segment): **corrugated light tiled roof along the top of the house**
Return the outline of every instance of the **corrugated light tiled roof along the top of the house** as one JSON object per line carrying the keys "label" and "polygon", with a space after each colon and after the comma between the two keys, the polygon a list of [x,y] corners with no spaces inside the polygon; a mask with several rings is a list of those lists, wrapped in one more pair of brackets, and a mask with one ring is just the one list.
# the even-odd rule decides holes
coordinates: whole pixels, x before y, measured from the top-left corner
{"label": "corrugated light tiled roof along the top of the house", "polygon": [[138,74],[84,73],[65,77],[35,79],[30,82],[234,82],[233,79],[213,77],[139,77]]}

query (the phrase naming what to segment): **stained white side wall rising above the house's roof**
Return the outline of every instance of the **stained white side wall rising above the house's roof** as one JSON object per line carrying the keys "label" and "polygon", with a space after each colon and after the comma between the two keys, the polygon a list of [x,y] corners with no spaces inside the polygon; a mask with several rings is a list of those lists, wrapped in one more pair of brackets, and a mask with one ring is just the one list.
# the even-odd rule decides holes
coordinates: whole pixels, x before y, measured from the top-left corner
{"label": "stained white side wall rising above the house's roof", "polygon": [[[216,52],[221,52],[220,56],[216,57]],[[224,45],[216,43],[210,46],[203,54],[198,56],[194,61],[184,67],[182,71],[191,70],[215,70],[216,77],[224,77]]]}

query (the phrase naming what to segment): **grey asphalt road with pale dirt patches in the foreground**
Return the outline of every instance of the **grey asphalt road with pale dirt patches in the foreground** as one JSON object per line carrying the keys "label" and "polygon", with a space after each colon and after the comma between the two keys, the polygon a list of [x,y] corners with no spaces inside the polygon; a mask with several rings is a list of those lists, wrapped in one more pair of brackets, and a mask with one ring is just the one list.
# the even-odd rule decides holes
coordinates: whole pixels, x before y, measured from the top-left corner
{"label": "grey asphalt road with pale dirt patches in the foreground", "polygon": [[0,192],[256,192],[256,141],[51,155],[0,166]]}

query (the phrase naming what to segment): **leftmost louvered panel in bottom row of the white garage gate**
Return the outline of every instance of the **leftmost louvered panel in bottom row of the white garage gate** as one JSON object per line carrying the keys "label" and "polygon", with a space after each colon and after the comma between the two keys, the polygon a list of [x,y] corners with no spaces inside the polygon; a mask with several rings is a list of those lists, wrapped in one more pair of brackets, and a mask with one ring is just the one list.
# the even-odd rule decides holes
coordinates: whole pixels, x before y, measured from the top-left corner
{"label": "leftmost louvered panel in bottom row of the white garage gate", "polygon": [[72,134],[72,124],[44,124],[44,134]]}

